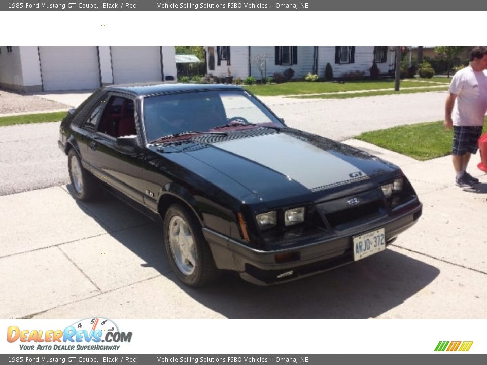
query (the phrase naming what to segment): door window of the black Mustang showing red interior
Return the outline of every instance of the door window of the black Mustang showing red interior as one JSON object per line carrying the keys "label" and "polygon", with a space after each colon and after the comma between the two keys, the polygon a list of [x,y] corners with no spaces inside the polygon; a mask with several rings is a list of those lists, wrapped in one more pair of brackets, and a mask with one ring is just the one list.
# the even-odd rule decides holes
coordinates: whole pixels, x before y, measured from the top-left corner
{"label": "door window of the black Mustang showing red interior", "polygon": [[114,138],[137,134],[133,100],[122,96],[110,97],[98,132]]}

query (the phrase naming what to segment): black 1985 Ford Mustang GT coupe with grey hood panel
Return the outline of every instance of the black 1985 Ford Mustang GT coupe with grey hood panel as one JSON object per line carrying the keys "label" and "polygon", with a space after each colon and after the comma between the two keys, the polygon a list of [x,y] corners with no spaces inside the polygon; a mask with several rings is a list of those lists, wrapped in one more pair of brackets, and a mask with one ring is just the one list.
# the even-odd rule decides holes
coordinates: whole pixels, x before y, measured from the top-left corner
{"label": "black 1985 Ford Mustang GT coupe with grey hood panel", "polygon": [[393,164],[287,127],[231,85],[114,85],[64,118],[77,199],[100,186],[163,222],[170,264],[267,285],[382,251],[422,205]]}

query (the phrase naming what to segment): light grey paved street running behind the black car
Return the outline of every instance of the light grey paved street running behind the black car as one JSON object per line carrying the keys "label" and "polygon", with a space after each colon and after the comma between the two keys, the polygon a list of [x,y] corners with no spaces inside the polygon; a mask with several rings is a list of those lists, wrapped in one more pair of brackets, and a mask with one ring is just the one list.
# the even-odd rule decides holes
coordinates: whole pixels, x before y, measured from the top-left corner
{"label": "light grey paved street running behind the black car", "polygon": [[[89,93],[41,96],[78,106]],[[364,131],[440,120],[445,92],[387,95],[353,99],[263,97],[290,127],[336,140]],[[57,147],[59,123],[2,127],[0,196],[58,186],[69,180],[67,158]]]}

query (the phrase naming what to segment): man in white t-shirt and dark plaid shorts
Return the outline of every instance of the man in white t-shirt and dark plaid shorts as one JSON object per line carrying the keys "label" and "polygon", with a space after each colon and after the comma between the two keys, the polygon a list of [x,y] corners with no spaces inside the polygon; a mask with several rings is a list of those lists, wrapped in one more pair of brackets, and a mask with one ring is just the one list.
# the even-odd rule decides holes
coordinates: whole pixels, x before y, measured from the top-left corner
{"label": "man in white t-shirt and dark plaid shorts", "polygon": [[487,47],[476,46],[470,53],[470,63],[457,71],[451,79],[445,103],[444,126],[453,126],[451,156],[455,168],[455,182],[459,187],[469,188],[478,184],[478,179],[467,171],[470,155],[477,152],[478,138],[482,133],[487,111]]}

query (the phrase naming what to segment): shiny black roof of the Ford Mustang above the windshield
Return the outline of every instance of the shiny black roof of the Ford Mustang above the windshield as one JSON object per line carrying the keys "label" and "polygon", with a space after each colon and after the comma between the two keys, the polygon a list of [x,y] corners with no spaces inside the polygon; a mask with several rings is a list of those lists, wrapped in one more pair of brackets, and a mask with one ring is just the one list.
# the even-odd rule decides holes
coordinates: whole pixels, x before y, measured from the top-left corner
{"label": "shiny black roof of the Ford Mustang above the windshield", "polygon": [[137,96],[148,96],[156,94],[170,94],[179,92],[192,91],[212,91],[212,90],[243,90],[243,88],[234,85],[224,84],[162,84],[162,83],[136,83],[136,84],[118,84],[105,86],[107,91],[122,91],[136,94]]}

